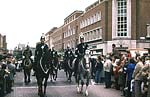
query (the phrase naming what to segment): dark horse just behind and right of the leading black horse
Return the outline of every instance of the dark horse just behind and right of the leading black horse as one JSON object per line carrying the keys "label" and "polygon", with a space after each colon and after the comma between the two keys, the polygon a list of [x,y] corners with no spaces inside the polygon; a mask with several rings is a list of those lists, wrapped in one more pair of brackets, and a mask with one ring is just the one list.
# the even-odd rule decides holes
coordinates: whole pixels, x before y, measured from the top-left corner
{"label": "dark horse just behind and right of the leading black horse", "polygon": [[51,78],[51,82],[53,80],[56,81],[57,79],[57,73],[58,73],[58,58],[51,58],[51,66],[50,66],[50,78]]}

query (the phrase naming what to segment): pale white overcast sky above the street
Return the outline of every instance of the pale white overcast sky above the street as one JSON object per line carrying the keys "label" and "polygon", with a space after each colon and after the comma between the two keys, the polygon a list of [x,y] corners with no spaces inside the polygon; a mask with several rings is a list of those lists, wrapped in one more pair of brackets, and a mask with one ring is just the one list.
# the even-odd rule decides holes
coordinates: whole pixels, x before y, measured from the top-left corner
{"label": "pale white overcast sky above the street", "polygon": [[75,10],[97,0],[0,0],[0,33],[6,35],[7,48],[19,43],[35,47],[42,33],[60,27]]}

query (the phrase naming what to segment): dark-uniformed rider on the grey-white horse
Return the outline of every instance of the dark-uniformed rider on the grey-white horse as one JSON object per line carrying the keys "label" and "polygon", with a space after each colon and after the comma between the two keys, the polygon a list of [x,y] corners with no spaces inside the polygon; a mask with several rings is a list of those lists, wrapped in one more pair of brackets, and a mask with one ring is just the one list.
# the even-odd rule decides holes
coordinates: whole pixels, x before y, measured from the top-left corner
{"label": "dark-uniformed rider on the grey-white horse", "polygon": [[84,42],[84,36],[80,35],[80,43],[76,46],[75,54],[77,55],[77,60],[75,64],[75,74],[77,73],[77,68],[80,60],[84,57],[85,51],[88,49],[88,45]]}

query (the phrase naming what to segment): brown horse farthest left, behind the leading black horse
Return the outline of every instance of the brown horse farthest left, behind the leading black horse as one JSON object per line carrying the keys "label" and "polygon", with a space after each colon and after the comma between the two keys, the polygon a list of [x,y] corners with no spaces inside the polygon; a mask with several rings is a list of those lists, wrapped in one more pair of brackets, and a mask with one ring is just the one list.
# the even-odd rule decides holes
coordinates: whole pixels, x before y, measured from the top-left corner
{"label": "brown horse farthest left, behind the leading black horse", "polygon": [[31,69],[32,69],[32,61],[29,57],[26,57],[23,60],[23,68],[24,68],[24,80],[25,83],[30,83],[30,75],[31,75]]}

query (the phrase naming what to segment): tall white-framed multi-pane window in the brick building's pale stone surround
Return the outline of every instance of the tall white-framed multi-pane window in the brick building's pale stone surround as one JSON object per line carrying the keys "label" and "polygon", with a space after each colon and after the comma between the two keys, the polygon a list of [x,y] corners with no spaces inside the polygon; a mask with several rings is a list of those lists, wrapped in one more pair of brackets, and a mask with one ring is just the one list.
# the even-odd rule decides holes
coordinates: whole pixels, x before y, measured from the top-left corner
{"label": "tall white-framed multi-pane window in the brick building's pale stone surround", "polygon": [[118,0],[117,36],[127,36],[127,1]]}

